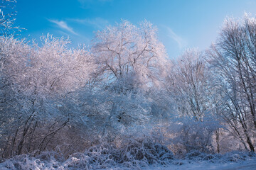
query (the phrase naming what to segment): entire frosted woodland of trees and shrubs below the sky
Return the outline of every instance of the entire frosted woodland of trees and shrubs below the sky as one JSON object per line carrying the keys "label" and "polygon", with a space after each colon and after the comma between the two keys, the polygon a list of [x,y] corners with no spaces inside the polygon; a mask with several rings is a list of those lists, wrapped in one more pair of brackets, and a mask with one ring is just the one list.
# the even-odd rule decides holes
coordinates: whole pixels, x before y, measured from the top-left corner
{"label": "entire frosted woodland of trees and shrubs below the sky", "polygon": [[122,20],[89,46],[70,47],[50,34],[19,38],[15,15],[1,10],[0,168],[144,169],[256,157],[252,15],[226,18],[208,49],[175,59],[146,20]]}

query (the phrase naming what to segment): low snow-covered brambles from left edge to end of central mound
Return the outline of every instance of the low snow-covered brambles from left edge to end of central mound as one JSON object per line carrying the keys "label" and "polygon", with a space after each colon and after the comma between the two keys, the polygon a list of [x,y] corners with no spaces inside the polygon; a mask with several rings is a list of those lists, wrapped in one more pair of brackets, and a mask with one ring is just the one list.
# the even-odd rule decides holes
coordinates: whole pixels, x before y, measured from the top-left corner
{"label": "low snow-covered brambles from left edge to end of central mound", "polygon": [[[71,154],[64,161],[55,152],[43,152],[36,157],[20,155],[0,164],[2,169],[142,169],[173,164],[174,154],[164,145],[149,139],[127,140],[117,147],[114,143],[96,145],[83,153]],[[174,162],[174,164],[176,164]]]}

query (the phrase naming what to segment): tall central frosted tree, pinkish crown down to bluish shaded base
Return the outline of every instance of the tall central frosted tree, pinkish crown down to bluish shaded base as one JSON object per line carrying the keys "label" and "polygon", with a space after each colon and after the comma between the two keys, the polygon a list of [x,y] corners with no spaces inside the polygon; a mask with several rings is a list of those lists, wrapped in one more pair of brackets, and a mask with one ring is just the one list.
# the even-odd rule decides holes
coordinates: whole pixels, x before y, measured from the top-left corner
{"label": "tall central frosted tree, pinkish crown down to bluish shaded base", "polygon": [[92,40],[91,51],[99,67],[102,89],[112,96],[108,98],[111,109],[106,114],[112,121],[106,127],[121,123],[127,128],[145,123],[152,115],[157,118],[164,111],[168,113],[169,103],[164,102],[159,87],[169,64],[156,33],[156,27],[148,21],[139,26],[122,21],[98,31]]}

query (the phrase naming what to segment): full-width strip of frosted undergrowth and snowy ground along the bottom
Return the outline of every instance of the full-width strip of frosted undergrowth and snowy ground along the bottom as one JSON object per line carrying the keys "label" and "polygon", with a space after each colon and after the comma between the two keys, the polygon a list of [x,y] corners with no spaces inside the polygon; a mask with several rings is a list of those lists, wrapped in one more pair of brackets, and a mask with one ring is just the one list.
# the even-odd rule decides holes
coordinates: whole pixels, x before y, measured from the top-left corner
{"label": "full-width strip of frosted undergrowth and snowy ground along the bottom", "polygon": [[[254,166],[255,165],[255,166]],[[122,147],[102,143],[84,153],[63,159],[54,152],[36,157],[19,155],[0,164],[0,169],[229,169],[244,167],[256,169],[255,153],[230,152],[206,154],[193,151],[183,159],[175,159],[165,146],[151,140],[132,140]]]}

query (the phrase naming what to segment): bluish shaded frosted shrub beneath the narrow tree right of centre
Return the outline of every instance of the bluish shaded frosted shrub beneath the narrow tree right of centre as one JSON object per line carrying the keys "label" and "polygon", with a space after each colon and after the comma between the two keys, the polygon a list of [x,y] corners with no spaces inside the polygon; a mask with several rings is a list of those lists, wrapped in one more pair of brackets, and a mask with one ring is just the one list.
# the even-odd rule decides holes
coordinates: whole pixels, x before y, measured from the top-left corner
{"label": "bluish shaded frosted shrub beneath the narrow tree right of centre", "polygon": [[220,125],[215,120],[205,118],[203,121],[195,121],[191,118],[182,118],[180,123],[173,123],[169,127],[172,151],[183,157],[191,151],[214,153],[213,135]]}

